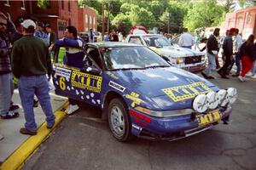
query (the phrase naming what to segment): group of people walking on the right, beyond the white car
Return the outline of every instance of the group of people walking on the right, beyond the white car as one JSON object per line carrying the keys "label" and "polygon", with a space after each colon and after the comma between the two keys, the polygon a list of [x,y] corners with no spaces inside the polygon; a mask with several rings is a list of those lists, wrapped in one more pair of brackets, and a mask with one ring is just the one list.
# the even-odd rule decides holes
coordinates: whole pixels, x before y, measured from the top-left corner
{"label": "group of people walking on the right, beyond the white car", "polygon": [[245,81],[245,76],[248,71],[253,73],[255,78],[255,68],[253,67],[256,59],[256,43],[255,37],[250,35],[245,42],[242,41],[239,30],[231,28],[226,31],[226,36],[223,38],[222,44],[219,39],[219,28],[215,28],[213,34],[207,39],[206,47],[202,50],[207,50],[208,65],[206,71],[201,72],[206,79],[213,79],[212,71],[219,68],[218,54],[222,48],[222,59],[224,65],[217,71],[220,77],[229,79],[230,71],[236,64],[236,72],[232,77],[238,77],[241,82]]}

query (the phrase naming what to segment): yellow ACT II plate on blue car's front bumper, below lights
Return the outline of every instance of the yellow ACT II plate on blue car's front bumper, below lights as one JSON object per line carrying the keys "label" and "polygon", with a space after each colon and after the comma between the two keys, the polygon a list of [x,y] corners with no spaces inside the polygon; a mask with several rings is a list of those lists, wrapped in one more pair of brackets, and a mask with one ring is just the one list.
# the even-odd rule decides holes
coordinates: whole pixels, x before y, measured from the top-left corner
{"label": "yellow ACT II plate on blue car's front bumper, below lights", "polygon": [[212,122],[218,122],[221,119],[221,115],[219,111],[211,111],[204,115],[198,115],[196,116],[198,126],[199,127],[205,127]]}

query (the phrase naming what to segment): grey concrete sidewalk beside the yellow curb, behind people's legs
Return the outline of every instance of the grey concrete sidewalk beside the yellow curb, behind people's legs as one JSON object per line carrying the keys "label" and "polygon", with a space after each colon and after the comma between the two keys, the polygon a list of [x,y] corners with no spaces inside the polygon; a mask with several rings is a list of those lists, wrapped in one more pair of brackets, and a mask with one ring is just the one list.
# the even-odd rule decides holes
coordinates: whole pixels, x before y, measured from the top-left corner
{"label": "grey concrete sidewalk beside the yellow curb, behind people's legs", "polygon": [[[61,107],[67,103],[67,99],[61,96],[57,96],[54,92],[50,93],[51,105],[53,111],[60,111]],[[20,104],[20,95],[17,89],[13,95],[13,101],[15,104],[20,105],[18,110],[20,116],[14,119],[0,119],[0,134],[3,135],[3,139],[0,140],[0,165],[11,156],[15,150],[17,150],[21,144],[23,144],[31,136],[20,133],[20,127],[24,127],[25,117]],[[35,119],[38,124],[38,128],[45,122],[44,112],[40,105],[34,108]],[[50,131],[49,131],[50,132]],[[38,132],[38,135],[40,132]],[[36,136],[38,136],[36,135]],[[43,141],[42,141],[43,142]],[[1,167],[0,167],[1,169]]]}

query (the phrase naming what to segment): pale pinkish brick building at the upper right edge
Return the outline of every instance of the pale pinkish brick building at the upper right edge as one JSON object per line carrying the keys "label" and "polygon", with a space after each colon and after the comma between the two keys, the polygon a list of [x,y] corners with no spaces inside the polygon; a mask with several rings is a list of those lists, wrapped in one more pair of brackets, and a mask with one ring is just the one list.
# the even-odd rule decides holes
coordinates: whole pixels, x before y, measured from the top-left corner
{"label": "pale pinkish brick building at the upper right edge", "polygon": [[243,39],[247,39],[250,34],[256,36],[256,7],[244,8],[226,14],[221,28],[225,31],[232,27],[239,29]]}

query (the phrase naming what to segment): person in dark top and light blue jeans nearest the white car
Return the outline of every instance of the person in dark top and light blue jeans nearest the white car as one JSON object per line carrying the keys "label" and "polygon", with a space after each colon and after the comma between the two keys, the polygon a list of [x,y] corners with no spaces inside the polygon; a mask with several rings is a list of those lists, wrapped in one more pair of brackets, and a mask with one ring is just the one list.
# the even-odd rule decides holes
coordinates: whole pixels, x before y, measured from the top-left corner
{"label": "person in dark top and light blue jeans nearest the white car", "polygon": [[207,58],[208,66],[205,72],[201,72],[201,75],[206,79],[214,79],[211,76],[212,70],[216,67],[216,59],[218,59],[218,41],[219,28],[215,28],[213,34],[209,37],[207,41]]}

